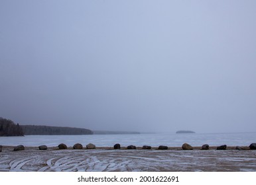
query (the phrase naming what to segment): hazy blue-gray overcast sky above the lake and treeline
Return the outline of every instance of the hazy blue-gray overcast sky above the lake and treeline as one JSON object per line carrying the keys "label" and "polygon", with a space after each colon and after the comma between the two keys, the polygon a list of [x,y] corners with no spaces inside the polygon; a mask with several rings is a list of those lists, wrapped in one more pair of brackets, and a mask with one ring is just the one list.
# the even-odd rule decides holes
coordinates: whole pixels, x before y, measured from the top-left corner
{"label": "hazy blue-gray overcast sky above the lake and treeline", "polygon": [[256,1],[0,1],[0,116],[256,131]]}

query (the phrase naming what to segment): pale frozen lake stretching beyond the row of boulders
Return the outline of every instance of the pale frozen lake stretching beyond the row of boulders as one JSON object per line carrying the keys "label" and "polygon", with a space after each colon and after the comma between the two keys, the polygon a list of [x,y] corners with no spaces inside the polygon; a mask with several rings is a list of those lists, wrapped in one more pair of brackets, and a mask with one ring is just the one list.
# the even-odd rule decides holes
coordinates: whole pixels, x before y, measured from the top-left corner
{"label": "pale frozen lake stretching beyond the row of boulders", "polygon": [[212,146],[249,146],[256,142],[256,133],[164,133],[164,134],[127,134],[127,135],[26,135],[25,137],[0,137],[0,145],[25,145],[36,147],[47,145],[55,147],[60,143],[73,146],[75,143],[94,143],[96,147],[113,147],[115,143],[121,146],[167,145],[168,147],[180,147],[183,143],[192,146],[208,144]]}

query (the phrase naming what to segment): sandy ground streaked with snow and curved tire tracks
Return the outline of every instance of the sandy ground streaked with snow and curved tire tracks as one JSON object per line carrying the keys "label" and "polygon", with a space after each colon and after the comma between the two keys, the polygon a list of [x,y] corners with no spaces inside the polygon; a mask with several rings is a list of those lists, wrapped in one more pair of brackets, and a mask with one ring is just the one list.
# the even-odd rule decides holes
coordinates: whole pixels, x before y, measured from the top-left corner
{"label": "sandy ground streaked with snow and curved tire tracks", "polygon": [[227,147],[225,151],[210,147],[208,151],[184,151],[180,147],[168,150],[135,150],[100,147],[97,149],[59,150],[48,147],[40,151],[38,147],[25,147],[24,151],[13,151],[12,146],[3,146],[0,153],[0,171],[256,171],[256,151],[235,150]]}

